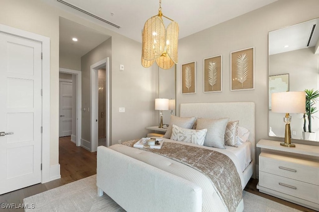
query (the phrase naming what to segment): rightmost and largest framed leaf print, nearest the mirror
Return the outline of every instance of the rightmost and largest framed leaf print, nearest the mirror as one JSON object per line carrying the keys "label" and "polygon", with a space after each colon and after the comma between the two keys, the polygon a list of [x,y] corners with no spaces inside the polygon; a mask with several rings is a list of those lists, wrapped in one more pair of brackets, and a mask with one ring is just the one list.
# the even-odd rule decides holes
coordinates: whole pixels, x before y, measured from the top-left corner
{"label": "rightmost and largest framed leaf print, nearest the mirror", "polygon": [[255,48],[230,53],[230,90],[255,89]]}

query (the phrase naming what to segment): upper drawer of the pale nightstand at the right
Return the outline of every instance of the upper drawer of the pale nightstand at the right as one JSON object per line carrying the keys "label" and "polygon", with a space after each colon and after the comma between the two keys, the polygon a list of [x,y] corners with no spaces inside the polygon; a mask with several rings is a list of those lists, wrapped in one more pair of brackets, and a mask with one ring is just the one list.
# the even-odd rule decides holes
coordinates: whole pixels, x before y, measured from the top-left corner
{"label": "upper drawer of the pale nightstand at the right", "polygon": [[319,186],[318,160],[263,151],[259,170]]}

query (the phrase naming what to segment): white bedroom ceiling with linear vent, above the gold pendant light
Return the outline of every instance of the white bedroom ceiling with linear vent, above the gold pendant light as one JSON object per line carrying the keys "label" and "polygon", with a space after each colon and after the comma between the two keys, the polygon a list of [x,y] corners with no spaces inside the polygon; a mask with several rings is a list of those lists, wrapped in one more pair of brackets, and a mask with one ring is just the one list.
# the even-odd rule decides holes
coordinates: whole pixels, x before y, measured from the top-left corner
{"label": "white bedroom ceiling with linear vent, above the gold pendant light", "polygon": [[[84,12],[67,6],[58,0],[43,1],[62,10],[82,16],[85,19],[91,20],[138,42],[142,40],[141,33],[145,21],[151,16],[157,15],[159,9],[159,0],[63,0],[70,5],[74,5],[120,26],[120,28],[116,28]],[[175,20],[179,24],[178,38],[180,39],[275,1],[276,0],[162,0],[161,7],[163,15]],[[80,28],[77,28],[76,24],[67,23],[67,21],[64,24],[63,21],[63,25],[60,29],[62,30],[60,31],[61,42],[65,42],[69,39],[69,36],[72,34],[70,30],[76,31],[76,29],[78,29],[79,32],[84,32]],[[167,27],[167,23],[164,23]],[[81,27],[81,25],[78,24],[78,27]],[[88,28],[86,28],[86,30],[88,30]],[[82,40],[82,42],[83,41],[84,40]],[[90,42],[93,41],[95,40],[90,39]],[[67,42],[65,44],[68,46],[72,45]],[[83,44],[82,47],[86,45],[87,44]]]}

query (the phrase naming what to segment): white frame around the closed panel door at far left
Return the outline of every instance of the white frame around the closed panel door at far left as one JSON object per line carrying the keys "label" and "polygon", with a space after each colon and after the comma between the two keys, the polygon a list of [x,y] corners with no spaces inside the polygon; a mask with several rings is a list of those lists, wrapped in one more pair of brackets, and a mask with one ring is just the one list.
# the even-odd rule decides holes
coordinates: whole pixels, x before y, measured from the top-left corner
{"label": "white frame around the closed panel door at far left", "polygon": [[[42,43],[42,177],[41,183],[50,179],[50,38],[0,24],[0,33]],[[52,138],[56,140],[56,138]]]}

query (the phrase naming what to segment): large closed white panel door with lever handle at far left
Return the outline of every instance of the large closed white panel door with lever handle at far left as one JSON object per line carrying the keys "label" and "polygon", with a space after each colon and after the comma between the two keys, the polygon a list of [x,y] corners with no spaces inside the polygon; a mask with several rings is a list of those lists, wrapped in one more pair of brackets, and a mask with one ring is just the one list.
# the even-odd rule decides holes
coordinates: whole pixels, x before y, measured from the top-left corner
{"label": "large closed white panel door with lever handle at far left", "polygon": [[0,33],[0,195],[41,182],[41,48]]}

